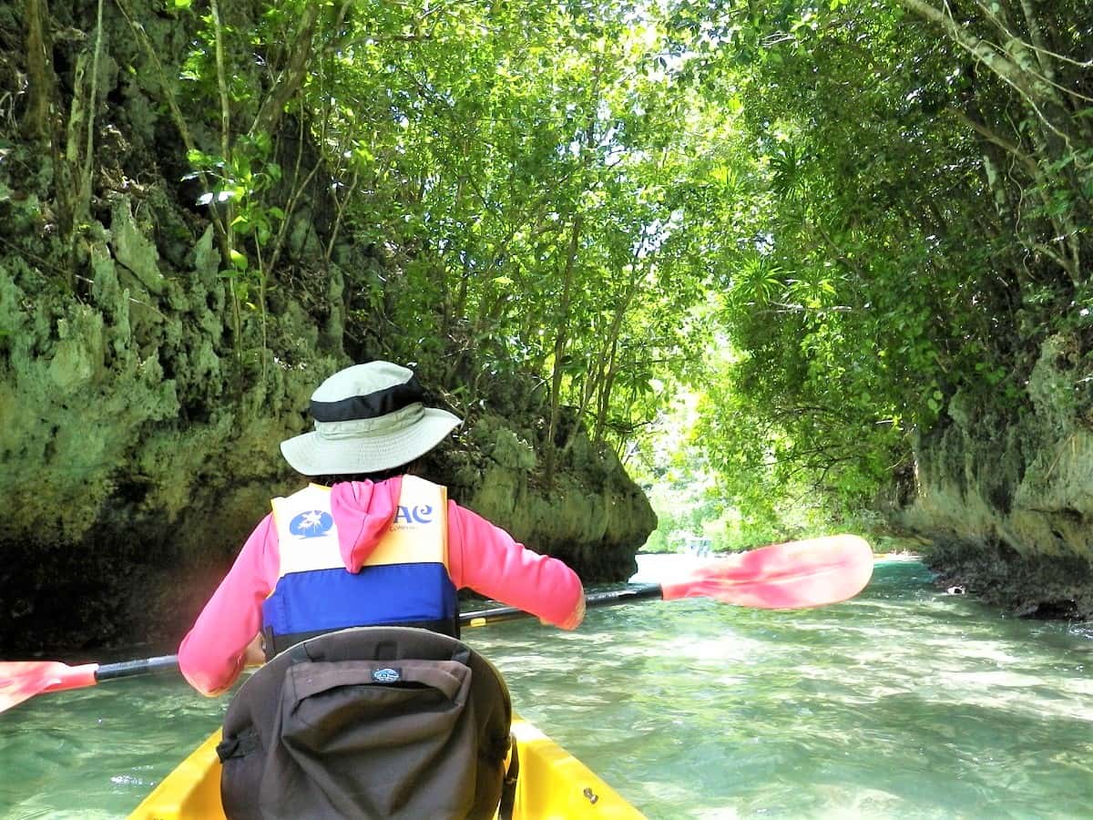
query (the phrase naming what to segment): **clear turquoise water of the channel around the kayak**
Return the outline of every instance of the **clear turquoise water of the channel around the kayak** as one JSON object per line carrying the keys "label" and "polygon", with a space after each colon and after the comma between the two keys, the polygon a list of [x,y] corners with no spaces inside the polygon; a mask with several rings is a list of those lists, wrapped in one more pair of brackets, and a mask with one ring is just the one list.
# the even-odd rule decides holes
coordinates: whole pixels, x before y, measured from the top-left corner
{"label": "clear turquoise water of the channel around the kayak", "polygon": [[[929,577],[884,561],[823,609],[657,601],[465,639],[650,818],[1093,817],[1093,626]],[[225,706],[173,677],[35,698],[0,715],[0,817],[124,817]]]}

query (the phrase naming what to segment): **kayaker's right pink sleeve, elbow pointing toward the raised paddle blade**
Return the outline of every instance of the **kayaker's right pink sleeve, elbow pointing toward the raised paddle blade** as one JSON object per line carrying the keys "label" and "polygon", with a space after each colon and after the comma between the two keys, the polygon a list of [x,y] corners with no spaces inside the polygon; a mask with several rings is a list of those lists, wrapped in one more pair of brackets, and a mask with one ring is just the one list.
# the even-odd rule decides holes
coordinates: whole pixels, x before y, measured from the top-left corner
{"label": "kayaker's right pink sleeve, elbow pointing toward the raised paddle blade", "polygon": [[577,573],[455,502],[448,502],[448,571],[457,588],[470,587],[555,626],[573,629],[584,617]]}

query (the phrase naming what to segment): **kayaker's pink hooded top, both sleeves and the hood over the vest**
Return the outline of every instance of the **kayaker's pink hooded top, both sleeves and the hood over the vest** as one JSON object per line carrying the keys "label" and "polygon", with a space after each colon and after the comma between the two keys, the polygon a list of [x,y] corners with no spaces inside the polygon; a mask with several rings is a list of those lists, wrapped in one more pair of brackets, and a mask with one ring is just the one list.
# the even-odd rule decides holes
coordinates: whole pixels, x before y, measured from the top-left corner
{"label": "kayaker's pink hooded top, both sleeves and the hood over the vest", "polygon": [[[331,489],[330,511],[348,571],[360,571],[391,525],[401,487],[399,477]],[[183,675],[202,694],[220,694],[239,676],[244,651],[261,631],[262,602],[277,585],[280,565],[269,514],[178,647]],[[584,614],[584,589],[573,570],[532,552],[454,501],[448,502],[448,574],[457,589],[473,589],[563,629],[575,628]]]}

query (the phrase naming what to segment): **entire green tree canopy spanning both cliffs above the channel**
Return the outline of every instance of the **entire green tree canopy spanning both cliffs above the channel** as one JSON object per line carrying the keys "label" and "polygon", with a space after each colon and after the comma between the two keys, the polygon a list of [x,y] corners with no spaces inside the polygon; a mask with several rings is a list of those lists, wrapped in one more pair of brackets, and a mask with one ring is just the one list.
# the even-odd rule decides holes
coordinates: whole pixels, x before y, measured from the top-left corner
{"label": "entire green tree canopy spanning both cliffs above the channel", "polygon": [[[519,385],[504,399],[541,413],[548,459],[578,424],[628,458],[686,388],[675,434],[718,503],[771,516],[868,503],[954,396],[1020,414],[1048,337],[1088,361],[1081,3],[117,4],[121,70],[161,83],[186,154],[164,163],[215,225],[240,366],[297,288],[463,412]],[[30,43],[47,15],[28,3]],[[185,32],[178,65],[153,15]],[[24,127],[56,133],[52,69],[27,69]],[[101,103],[79,82],[77,266]],[[305,212],[321,242],[289,259]],[[343,243],[374,265],[332,282]]]}

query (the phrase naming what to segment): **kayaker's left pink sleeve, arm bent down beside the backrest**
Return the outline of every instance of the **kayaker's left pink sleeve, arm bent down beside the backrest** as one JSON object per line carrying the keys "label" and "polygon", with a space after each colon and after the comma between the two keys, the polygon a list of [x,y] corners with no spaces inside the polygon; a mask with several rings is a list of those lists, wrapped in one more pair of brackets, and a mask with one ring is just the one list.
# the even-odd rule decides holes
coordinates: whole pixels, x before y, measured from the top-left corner
{"label": "kayaker's left pink sleeve, arm bent down beside the backrest", "polygon": [[178,647],[178,666],[201,694],[221,694],[239,677],[244,649],[261,631],[262,601],[277,584],[280,560],[277,527],[267,515]]}

